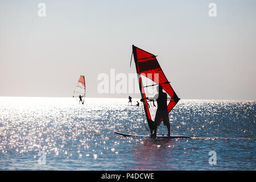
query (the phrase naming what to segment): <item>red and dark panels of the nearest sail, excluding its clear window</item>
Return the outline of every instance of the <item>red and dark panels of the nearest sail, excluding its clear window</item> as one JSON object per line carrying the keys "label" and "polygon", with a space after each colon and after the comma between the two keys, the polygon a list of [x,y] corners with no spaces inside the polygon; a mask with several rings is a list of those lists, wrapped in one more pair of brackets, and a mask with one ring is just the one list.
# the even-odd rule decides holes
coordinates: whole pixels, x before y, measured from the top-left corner
{"label": "red and dark panels of the nearest sail, excluding its clear window", "polygon": [[[144,92],[144,86],[146,85],[143,85],[141,76],[146,76],[147,78],[155,82],[156,85],[162,85],[163,90],[171,97],[171,100],[170,102],[168,102],[167,105],[168,112],[170,112],[172,108],[174,108],[177,102],[179,102],[180,98],[177,97],[174,89],[172,89],[172,86],[164,75],[155,55],[133,45],[133,56],[135,67],[139,76],[139,89],[141,91],[144,110],[146,113],[148,126],[150,127],[150,130],[152,132],[152,130],[154,130],[154,118],[152,118],[152,114],[150,113],[150,104],[147,102],[146,94]],[[150,75],[150,77],[147,75]]]}

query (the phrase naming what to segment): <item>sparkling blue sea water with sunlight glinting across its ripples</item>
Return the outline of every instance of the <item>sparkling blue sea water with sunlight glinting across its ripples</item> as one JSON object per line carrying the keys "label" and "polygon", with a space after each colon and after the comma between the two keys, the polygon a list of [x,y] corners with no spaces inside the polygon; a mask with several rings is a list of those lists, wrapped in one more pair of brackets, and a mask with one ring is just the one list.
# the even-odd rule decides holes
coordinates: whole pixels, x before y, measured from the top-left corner
{"label": "sparkling blue sea water with sunlight glinting across its ripples", "polygon": [[[170,114],[171,133],[192,139],[172,140],[115,135],[148,134],[142,107],[127,101],[0,97],[0,169],[256,169],[255,101],[181,100]],[[158,133],[167,133],[163,124]]]}

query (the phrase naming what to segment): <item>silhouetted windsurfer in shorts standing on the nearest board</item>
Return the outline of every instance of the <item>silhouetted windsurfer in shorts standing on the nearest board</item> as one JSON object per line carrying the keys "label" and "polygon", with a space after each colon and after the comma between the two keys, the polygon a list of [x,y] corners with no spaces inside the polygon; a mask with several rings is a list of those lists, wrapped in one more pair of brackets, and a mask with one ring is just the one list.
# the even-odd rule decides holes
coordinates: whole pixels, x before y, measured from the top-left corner
{"label": "silhouetted windsurfer in shorts standing on the nearest board", "polygon": [[164,126],[167,126],[167,136],[170,136],[170,121],[167,109],[167,93],[163,92],[163,87],[161,85],[158,86],[158,94],[156,94],[153,99],[156,99],[156,102],[158,103],[158,109],[156,110],[155,114],[154,133],[151,134],[151,137],[156,137],[156,130],[161,123],[161,119],[163,119]]}

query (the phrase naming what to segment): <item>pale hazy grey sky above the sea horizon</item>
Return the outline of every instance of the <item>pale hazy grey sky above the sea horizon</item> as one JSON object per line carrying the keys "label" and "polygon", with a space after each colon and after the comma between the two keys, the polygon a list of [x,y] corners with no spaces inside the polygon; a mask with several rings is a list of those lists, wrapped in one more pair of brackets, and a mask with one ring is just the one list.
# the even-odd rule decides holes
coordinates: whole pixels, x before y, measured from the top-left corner
{"label": "pale hazy grey sky above the sea horizon", "polygon": [[133,44],[158,55],[181,99],[256,100],[254,0],[1,0],[0,96],[72,97],[85,75],[86,97],[139,98],[97,92],[100,73],[136,72]]}

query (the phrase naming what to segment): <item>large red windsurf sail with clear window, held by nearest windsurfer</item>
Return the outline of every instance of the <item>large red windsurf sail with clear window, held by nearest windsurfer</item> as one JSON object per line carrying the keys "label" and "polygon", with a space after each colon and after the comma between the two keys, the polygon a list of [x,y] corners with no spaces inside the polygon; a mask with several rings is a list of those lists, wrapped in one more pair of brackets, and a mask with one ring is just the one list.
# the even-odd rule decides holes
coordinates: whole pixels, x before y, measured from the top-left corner
{"label": "large red windsurf sail with clear window, held by nearest windsurfer", "polygon": [[[155,55],[135,46],[133,46],[133,55],[135,67],[139,76],[139,89],[141,90],[148,126],[150,127],[150,130],[152,130],[154,129],[153,122],[157,106],[155,106],[156,103],[152,104],[150,103],[151,101],[148,101],[146,98],[150,97],[150,94],[154,94],[154,91],[152,91],[154,90],[153,88],[156,88],[157,85],[161,85],[163,87],[163,91],[167,93],[168,98],[170,98],[167,101],[168,112],[172,110],[180,98],[177,97],[174,89],[172,89],[170,82],[168,82],[158,63],[158,60],[156,60]],[[147,92],[147,89],[151,89],[151,93]]]}

